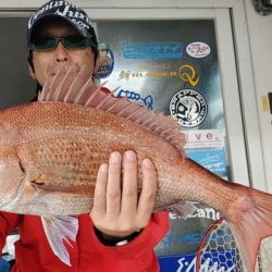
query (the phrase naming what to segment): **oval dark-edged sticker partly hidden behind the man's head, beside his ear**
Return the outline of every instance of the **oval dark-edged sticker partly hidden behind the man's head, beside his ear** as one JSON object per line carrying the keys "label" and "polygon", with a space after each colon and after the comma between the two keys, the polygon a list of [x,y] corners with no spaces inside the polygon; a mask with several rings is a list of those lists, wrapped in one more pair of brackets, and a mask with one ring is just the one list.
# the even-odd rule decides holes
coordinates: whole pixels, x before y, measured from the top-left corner
{"label": "oval dark-edged sticker partly hidden behind the man's head, beside his ear", "polygon": [[103,42],[98,44],[97,50],[98,50],[97,61],[99,67],[95,76],[97,78],[106,78],[111,74],[114,66],[113,53],[110,50],[109,46]]}

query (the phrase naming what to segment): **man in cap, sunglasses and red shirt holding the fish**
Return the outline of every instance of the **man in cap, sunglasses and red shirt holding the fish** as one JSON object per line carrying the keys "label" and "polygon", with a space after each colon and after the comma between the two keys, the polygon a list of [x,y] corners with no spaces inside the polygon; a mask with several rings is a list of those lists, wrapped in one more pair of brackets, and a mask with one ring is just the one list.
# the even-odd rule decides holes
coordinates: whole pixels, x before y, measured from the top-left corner
{"label": "man in cap, sunglasses and red shirt holding the fish", "polygon": [[[60,66],[85,67],[86,77],[98,69],[97,38],[88,16],[66,1],[50,1],[29,18],[27,42],[29,73],[38,90]],[[12,271],[158,271],[153,247],[168,231],[168,214],[152,214],[157,175],[149,159],[143,162],[143,174],[138,196],[137,158],[132,150],[113,152],[100,166],[92,210],[78,217],[77,239],[71,242],[73,248],[66,247],[71,267],[52,252],[39,217],[1,212],[0,248],[15,227],[21,236]]]}

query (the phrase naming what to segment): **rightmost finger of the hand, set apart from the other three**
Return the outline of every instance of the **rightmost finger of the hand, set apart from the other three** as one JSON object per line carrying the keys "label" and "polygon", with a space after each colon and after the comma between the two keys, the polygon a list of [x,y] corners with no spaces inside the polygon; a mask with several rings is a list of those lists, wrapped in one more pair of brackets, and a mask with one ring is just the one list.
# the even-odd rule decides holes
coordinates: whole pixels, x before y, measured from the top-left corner
{"label": "rightmost finger of the hand, set apart from the other three", "polygon": [[138,200],[137,217],[140,222],[147,223],[150,219],[157,197],[157,172],[150,159],[143,161],[143,187]]}

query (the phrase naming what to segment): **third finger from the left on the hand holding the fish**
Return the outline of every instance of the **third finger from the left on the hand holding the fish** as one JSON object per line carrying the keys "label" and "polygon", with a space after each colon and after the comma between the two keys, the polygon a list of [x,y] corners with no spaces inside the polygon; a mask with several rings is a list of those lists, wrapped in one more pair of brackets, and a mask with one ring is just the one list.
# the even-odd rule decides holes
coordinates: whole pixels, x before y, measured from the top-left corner
{"label": "third finger from the left on the hand holding the fish", "polygon": [[134,151],[127,150],[123,159],[123,190],[121,213],[124,218],[133,218],[137,211],[138,163]]}

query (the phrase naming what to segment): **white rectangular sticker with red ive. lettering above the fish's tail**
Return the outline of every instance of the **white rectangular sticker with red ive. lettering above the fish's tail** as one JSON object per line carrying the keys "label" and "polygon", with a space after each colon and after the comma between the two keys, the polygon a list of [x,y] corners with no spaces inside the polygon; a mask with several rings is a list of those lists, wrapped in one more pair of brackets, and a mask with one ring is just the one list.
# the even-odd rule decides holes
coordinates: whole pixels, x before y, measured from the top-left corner
{"label": "white rectangular sticker with red ive. lettering above the fish's tail", "polygon": [[183,131],[185,148],[223,148],[224,139],[219,129]]}

